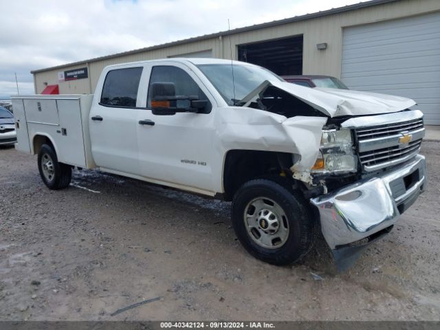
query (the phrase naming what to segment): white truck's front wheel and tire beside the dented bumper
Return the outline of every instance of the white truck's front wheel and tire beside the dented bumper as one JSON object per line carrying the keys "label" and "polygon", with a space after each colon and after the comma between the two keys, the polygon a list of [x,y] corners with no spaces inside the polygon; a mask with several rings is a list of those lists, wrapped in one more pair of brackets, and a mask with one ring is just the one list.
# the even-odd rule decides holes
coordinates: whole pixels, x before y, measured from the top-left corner
{"label": "white truck's front wheel and tire beside the dented bumper", "polygon": [[290,189],[287,180],[276,181],[254,179],[243,184],[232,201],[232,225],[252,256],[289,265],[311,250],[318,224],[303,196]]}

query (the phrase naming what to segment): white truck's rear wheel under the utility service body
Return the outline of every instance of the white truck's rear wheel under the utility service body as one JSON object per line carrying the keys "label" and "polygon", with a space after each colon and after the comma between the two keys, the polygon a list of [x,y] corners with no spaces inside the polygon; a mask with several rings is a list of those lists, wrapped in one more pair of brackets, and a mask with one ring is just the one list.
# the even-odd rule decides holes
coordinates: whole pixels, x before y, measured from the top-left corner
{"label": "white truck's rear wheel under the utility service body", "polygon": [[69,186],[72,180],[72,167],[58,162],[52,146],[43,144],[39,151],[39,172],[49,189],[58,190]]}

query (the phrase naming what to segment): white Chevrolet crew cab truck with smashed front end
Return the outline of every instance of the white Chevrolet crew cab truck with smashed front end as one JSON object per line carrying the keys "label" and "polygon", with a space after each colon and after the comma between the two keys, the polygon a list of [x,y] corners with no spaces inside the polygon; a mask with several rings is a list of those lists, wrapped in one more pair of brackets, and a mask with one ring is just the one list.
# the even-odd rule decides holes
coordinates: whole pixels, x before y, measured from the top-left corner
{"label": "white Chevrolet crew cab truck with smashed front end", "polygon": [[94,95],[12,102],[16,148],[38,155],[48,188],[77,166],[232,201],[244,248],[276,265],[321,231],[344,267],[425,186],[414,101],[302,87],[248,63],[111,65]]}

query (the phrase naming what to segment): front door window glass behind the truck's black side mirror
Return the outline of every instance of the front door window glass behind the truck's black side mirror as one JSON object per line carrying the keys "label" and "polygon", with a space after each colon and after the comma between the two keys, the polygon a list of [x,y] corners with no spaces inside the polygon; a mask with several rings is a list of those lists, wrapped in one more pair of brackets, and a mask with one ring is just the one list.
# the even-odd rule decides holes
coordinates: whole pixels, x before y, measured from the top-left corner
{"label": "front door window glass behind the truck's black side mirror", "polygon": [[[208,100],[199,85],[183,69],[168,65],[157,65],[151,69],[150,87],[148,88],[146,104],[148,109],[151,109],[151,85],[153,83],[173,83],[175,96],[197,96],[199,100]],[[208,100],[208,104],[201,113],[210,113],[211,108],[212,106]]]}

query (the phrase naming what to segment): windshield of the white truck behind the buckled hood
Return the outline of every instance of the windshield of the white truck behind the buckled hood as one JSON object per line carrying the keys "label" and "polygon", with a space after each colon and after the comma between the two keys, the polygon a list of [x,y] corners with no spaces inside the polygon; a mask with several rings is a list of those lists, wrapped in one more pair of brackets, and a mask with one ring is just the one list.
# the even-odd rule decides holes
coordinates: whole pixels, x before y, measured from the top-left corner
{"label": "windshield of the white truck behind the buckled hood", "polygon": [[232,65],[230,64],[203,64],[197,67],[229,105],[236,104],[236,101],[247,96],[265,80],[284,81],[263,67],[234,64],[234,84],[232,84]]}

